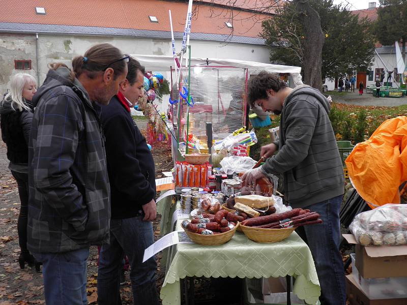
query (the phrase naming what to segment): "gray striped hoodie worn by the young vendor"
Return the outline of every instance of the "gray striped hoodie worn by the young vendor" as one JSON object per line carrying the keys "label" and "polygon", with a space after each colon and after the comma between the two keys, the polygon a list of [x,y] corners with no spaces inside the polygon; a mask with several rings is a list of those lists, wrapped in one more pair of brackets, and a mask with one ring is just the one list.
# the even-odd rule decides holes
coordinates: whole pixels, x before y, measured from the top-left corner
{"label": "gray striped hoodie worn by the young vendor", "polygon": [[261,170],[283,174],[284,196],[293,207],[305,208],[344,192],[329,111],[327,98],[309,86],[295,88],[284,101],[279,151]]}

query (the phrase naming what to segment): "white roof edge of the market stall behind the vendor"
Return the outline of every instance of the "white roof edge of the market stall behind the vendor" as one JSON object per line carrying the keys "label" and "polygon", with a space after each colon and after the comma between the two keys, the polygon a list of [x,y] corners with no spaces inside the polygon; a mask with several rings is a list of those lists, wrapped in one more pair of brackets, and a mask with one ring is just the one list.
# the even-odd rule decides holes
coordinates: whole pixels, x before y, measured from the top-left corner
{"label": "white roof edge of the market stall behind the vendor", "polygon": [[[146,66],[148,70],[154,71],[170,71],[170,67],[174,67],[174,59],[172,56],[164,55],[140,55],[132,54],[141,65]],[[266,70],[274,73],[301,73],[301,67],[272,65],[257,62],[248,62],[246,60],[237,59],[219,59],[219,58],[191,58],[191,67],[205,67],[209,63],[209,66],[222,66],[222,67],[235,67],[235,68],[247,68],[249,70],[262,71]]]}

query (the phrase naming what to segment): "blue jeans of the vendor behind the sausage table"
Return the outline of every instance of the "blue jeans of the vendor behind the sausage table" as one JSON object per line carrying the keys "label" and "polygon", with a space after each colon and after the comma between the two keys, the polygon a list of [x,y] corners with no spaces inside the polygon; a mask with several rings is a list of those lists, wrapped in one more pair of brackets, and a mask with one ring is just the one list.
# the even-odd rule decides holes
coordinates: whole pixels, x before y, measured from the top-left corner
{"label": "blue jeans of the vendor behind the sausage table", "polygon": [[345,275],[339,252],[339,210],[342,195],[310,205],[321,215],[322,224],[304,226],[308,247],[315,262],[321,304],[344,305],[346,302]]}

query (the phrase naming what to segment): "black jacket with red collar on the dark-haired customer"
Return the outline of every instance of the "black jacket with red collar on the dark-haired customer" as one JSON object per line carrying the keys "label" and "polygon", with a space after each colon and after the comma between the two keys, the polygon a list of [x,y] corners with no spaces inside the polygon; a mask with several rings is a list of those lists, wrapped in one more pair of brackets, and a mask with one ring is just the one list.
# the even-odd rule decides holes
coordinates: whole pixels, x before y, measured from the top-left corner
{"label": "black jacket with red collar on the dark-haired customer", "polygon": [[100,109],[106,137],[112,219],[139,215],[141,206],[156,195],[153,156],[124,103],[127,102],[119,93],[119,97],[114,96],[108,106]]}

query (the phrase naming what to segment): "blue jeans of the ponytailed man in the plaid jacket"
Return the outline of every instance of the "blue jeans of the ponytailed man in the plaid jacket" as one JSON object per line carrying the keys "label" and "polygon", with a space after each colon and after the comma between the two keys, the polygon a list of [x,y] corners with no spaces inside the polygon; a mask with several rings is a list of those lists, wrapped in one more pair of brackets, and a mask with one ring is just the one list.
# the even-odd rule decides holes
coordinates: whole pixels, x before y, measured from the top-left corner
{"label": "blue jeans of the ponytailed man in the plaid jacket", "polygon": [[33,253],[42,262],[46,304],[86,305],[89,248],[63,253]]}

